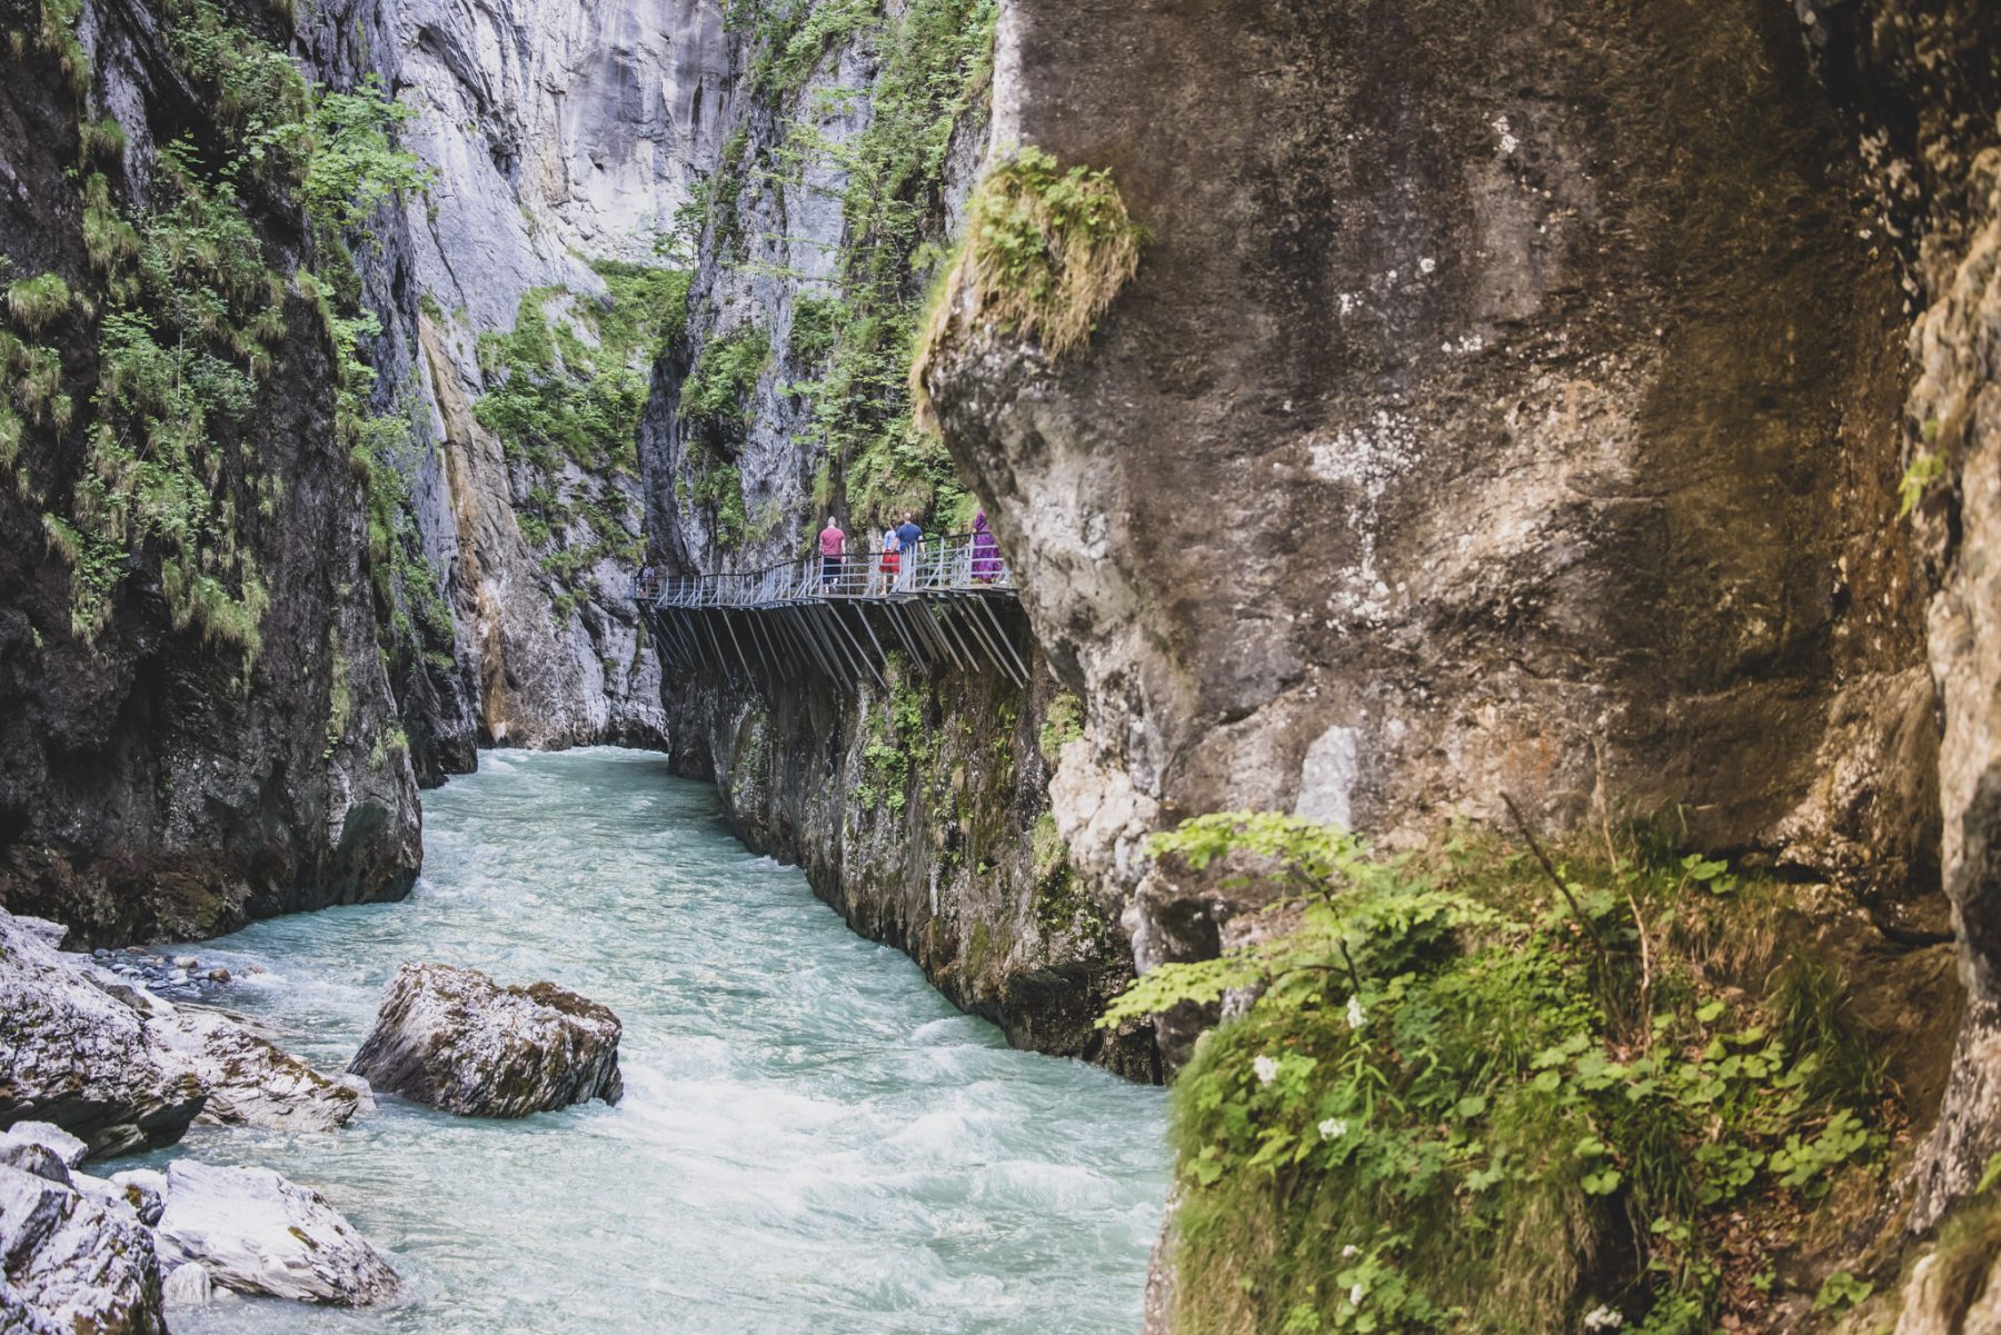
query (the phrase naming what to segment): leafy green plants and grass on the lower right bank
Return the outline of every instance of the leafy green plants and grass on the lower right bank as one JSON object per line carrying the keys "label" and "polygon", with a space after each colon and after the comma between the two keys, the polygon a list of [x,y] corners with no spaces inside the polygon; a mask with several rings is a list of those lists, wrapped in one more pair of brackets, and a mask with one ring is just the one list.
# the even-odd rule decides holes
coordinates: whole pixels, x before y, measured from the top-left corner
{"label": "leafy green plants and grass on the lower right bank", "polygon": [[1297,923],[1101,1021],[1257,991],[1175,1089],[1177,1331],[1737,1325],[1777,1293],[1747,1239],[1885,1145],[1839,979],[1777,963],[1777,887],[1719,861],[1609,831],[1381,859],[1243,813],[1155,853]]}

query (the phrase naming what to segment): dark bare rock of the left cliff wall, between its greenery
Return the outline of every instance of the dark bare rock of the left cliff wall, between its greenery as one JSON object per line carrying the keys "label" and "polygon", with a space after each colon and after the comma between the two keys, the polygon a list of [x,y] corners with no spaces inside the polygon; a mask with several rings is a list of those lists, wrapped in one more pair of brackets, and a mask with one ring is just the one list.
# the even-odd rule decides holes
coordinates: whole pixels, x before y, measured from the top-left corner
{"label": "dark bare rock of the left cliff wall, between its greenery", "polygon": [[[8,26],[36,28],[30,10],[12,6]],[[242,10],[238,22],[282,40],[268,10]],[[54,356],[68,406],[22,418],[26,400],[8,394],[0,907],[98,943],[398,897],[416,873],[416,791],[406,757],[388,747],[396,703],[376,656],[360,486],[334,444],[330,346],[306,304],[282,304],[286,332],[248,412],[208,430],[212,496],[202,500],[214,510],[188,524],[204,532],[196,568],[212,582],[190,592],[194,576],[158,546],[112,556],[56,526],[84,514],[72,496],[88,488],[100,358],[116,354],[92,298],[104,256],[88,252],[82,216],[166,208],[156,140],[214,148],[224,136],[214,100],[142,6],[84,6],[74,42],[90,66],[82,96],[40,46],[0,56],[8,280],[54,274],[90,298],[46,322],[12,314],[8,324],[10,338]],[[86,162],[78,124],[102,116],[118,118],[122,150]],[[108,192],[102,208],[82,198],[92,172]],[[296,272],[300,210],[260,196],[246,220],[280,280]],[[72,574],[78,560],[86,566]],[[346,664],[348,747],[326,755],[336,660]]]}

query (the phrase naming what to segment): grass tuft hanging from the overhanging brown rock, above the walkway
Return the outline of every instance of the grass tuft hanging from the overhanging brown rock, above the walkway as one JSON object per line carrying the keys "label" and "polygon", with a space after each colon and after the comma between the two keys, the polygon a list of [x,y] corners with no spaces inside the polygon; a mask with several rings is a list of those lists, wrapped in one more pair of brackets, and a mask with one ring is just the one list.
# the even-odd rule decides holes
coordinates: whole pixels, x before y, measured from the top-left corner
{"label": "grass tuft hanging from the overhanging brown rock, above the walkway", "polygon": [[1143,232],[1111,172],[1063,170],[1039,148],[1019,148],[980,180],[966,208],[966,238],[924,324],[910,368],[922,402],[924,364],[950,328],[950,306],[968,292],[980,316],[1037,336],[1053,358],[1091,340],[1119,288],[1139,270]]}

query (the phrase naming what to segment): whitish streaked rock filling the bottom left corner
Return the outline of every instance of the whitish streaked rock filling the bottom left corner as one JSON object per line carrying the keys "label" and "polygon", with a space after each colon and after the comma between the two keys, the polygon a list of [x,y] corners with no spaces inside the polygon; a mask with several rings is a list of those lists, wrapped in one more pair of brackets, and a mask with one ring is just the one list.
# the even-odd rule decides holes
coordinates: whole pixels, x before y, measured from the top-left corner
{"label": "whitish streaked rock filling the bottom left corner", "polygon": [[166,1331],[160,1263],[146,1229],[130,1211],[78,1191],[68,1175],[56,1181],[0,1167],[0,1315],[8,1319],[0,1329],[8,1335]]}

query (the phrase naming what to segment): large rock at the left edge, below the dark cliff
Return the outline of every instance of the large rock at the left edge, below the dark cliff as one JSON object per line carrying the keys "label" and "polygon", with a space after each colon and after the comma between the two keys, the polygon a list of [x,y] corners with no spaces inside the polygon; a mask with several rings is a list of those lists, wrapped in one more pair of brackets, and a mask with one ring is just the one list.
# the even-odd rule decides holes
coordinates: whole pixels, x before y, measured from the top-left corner
{"label": "large rock at the left edge, below the dark cliff", "polygon": [[146,1021],[42,933],[0,913],[0,1127],[50,1121],[94,1155],[178,1141],[202,1085]]}

